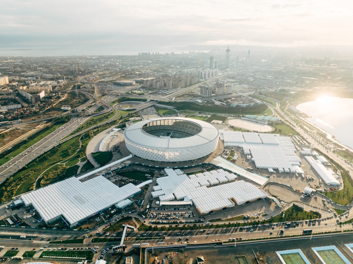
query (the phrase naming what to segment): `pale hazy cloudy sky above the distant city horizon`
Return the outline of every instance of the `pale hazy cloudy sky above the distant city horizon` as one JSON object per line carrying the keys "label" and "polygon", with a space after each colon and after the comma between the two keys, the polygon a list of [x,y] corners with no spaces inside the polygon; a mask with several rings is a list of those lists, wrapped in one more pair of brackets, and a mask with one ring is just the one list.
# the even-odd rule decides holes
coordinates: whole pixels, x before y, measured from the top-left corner
{"label": "pale hazy cloudy sky above the distant city horizon", "polygon": [[350,0],[0,2],[1,50],[128,54],[197,44],[353,44]]}

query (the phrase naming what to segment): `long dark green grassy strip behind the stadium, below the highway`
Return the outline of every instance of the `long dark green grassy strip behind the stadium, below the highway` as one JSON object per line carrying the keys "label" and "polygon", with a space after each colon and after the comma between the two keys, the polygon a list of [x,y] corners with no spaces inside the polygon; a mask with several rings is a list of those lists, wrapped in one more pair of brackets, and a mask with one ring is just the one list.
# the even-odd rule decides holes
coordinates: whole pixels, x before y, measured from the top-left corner
{"label": "long dark green grassy strip behind the stadium, below the highway", "polygon": [[249,107],[231,107],[219,105],[197,104],[192,102],[158,102],[158,104],[174,106],[177,110],[191,110],[205,113],[228,113],[232,115],[263,115],[267,113],[272,115],[273,112],[265,104],[259,104]]}

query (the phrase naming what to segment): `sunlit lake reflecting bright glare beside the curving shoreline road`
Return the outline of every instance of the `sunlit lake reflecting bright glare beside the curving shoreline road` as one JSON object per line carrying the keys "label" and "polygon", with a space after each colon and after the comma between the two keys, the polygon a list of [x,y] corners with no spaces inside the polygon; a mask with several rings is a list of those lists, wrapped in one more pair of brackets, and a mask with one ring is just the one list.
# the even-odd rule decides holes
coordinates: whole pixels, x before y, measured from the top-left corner
{"label": "sunlit lake reflecting bright glare beside the curving shoreline road", "polygon": [[297,109],[311,116],[307,120],[334,135],[338,141],[353,148],[353,99],[320,97],[299,104]]}

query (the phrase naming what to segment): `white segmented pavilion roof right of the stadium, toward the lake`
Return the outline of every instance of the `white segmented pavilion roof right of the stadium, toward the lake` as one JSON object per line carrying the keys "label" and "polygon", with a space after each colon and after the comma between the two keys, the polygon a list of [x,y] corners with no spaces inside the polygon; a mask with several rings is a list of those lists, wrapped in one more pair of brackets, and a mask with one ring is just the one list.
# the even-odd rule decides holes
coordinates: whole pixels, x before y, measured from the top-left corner
{"label": "white segmented pavilion roof right of the stadium, toward the lake", "polygon": [[257,168],[273,168],[294,173],[293,165],[301,160],[295,154],[295,147],[289,137],[279,134],[258,134],[252,132],[223,131],[225,146],[241,147],[244,154],[251,154]]}

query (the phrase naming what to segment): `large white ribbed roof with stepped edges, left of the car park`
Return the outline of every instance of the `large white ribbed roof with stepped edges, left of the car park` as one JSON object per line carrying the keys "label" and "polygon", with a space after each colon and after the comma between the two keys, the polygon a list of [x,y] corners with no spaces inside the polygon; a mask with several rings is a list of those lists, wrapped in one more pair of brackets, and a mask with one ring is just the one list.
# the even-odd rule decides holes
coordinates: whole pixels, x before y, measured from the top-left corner
{"label": "large white ribbed roof with stepped edges, left of the car park", "polygon": [[103,176],[85,182],[71,177],[24,194],[21,199],[26,206],[32,204],[46,223],[63,216],[74,226],[139,191],[131,183],[119,188]]}

